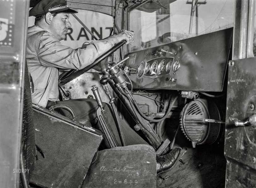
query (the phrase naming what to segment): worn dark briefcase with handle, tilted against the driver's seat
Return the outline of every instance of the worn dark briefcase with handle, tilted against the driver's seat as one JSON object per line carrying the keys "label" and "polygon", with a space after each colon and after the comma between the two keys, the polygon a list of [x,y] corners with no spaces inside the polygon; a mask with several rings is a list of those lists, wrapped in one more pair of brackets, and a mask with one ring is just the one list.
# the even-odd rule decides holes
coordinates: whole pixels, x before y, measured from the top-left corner
{"label": "worn dark briefcase with handle, tilted against the driver's seat", "polygon": [[33,105],[37,157],[30,182],[41,187],[77,188],[82,185],[103,139],[90,126]]}

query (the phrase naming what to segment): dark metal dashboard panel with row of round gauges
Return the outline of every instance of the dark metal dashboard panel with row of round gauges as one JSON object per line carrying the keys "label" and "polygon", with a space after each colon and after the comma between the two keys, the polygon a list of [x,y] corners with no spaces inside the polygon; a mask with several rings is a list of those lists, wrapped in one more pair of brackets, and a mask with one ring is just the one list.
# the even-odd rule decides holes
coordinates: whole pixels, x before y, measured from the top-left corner
{"label": "dark metal dashboard panel with row of round gauges", "polygon": [[135,89],[223,90],[233,28],[129,53]]}

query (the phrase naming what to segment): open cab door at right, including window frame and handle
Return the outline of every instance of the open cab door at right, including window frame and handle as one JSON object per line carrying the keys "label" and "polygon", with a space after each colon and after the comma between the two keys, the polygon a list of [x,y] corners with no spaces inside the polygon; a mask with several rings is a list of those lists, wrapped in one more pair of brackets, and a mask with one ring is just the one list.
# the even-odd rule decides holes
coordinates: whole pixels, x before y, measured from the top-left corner
{"label": "open cab door at right, including window frame and handle", "polygon": [[[255,1],[236,1],[233,56],[228,64],[224,155],[226,187],[256,187]],[[254,52],[255,54],[255,52]]]}

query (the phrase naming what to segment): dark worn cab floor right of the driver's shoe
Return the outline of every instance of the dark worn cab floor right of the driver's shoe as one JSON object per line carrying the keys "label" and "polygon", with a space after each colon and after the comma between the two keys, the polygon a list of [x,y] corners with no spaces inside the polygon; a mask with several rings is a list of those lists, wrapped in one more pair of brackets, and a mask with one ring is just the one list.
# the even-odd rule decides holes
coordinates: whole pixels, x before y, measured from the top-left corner
{"label": "dark worn cab floor right of the driver's shoe", "polygon": [[[222,152],[221,152],[222,151]],[[188,148],[158,187],[165,188],[224,188],[226,160],[222,145]]]}

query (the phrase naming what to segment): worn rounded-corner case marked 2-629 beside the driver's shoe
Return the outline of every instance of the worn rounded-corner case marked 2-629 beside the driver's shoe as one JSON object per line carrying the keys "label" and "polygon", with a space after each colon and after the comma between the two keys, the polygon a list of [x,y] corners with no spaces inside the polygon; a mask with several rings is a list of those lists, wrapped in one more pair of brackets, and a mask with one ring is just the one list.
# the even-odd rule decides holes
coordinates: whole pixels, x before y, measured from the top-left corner
{"label": "worn rounded-corner case marked 2-629 beside the driver's shoe", "polygon": [[137,144],[99,151],[83,188],[156,188],[156,154],[152,146]]}

